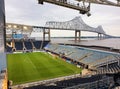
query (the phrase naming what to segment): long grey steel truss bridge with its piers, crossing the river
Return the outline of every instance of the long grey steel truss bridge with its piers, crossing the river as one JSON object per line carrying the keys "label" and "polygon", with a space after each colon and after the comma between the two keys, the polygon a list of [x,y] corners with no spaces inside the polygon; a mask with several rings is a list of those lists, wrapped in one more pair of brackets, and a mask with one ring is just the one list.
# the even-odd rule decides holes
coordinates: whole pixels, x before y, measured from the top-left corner
{"label": "long grey steel truss bridge with its piers, crossing the river", "polygon": [[[65,22],[56,22],[56,21],[48,21],[45,24],[45,27],[34,26],[35,29],[44,29],[44,36],[48,34],[48,39],[50,39],[50,30],[72,30],[75,31],[75,42],[80,42],[81,31],[88,31],[98,33],[98,38],[101,39],[104,36],[109,36],[105,33],[102,26],[98,26],[97,28],[88,26],[84,23],[81,17],[75,17],[70,21]],[[45,32],[47,29],[47,32]],[[103,35],[103,36],[102,36]]]}

